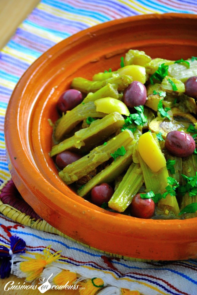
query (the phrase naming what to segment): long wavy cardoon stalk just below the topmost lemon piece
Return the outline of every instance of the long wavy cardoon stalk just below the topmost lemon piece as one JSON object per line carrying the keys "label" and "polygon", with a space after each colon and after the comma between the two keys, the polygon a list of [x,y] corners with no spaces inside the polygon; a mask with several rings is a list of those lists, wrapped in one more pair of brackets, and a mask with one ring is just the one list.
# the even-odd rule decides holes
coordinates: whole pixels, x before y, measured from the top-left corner
{"label": "long wavy cardoon stalk just below the topmost lemon piece", "polygon": [[71,87],[77,89],[81,92],[95,92],[98,89],[101,89],[107,84],[117,84],[118,91],[124,90],[126,87],[131,84],[133,78],[131,76],[122,75],[115,78],[109,78],[104,81],[90,81],[81,77],[74,78],[72,80]]}

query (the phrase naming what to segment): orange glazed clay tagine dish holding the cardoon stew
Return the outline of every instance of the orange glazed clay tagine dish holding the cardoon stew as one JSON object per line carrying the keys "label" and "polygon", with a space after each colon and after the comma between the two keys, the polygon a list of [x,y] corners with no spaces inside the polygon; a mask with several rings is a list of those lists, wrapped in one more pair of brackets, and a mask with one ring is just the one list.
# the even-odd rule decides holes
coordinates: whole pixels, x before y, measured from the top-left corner
{"label": "orange glazed clay tagine dish holding the cardoon stew", "polygon": [[[93,204],[94,202],[92,203],[86,196],[80,196],[77,190],[75,192],[72,181],[68,180],[65,173],[64,175],[58,174],[54,159],[50,156],[54,144],[52,143],[52,138],[54,138],[52,125],[60,117],[56,104],[64,91],[74,88],[73,81],[76,81],[73,80],[74,78],[83,77],[91,80],[95,74],[112,69],[115,71],[113,78],[116,79],[116,75],[119,75],[117,69],[120,68],[120,60],[130,49],[135,52],[145,52],[152,61],[155,58],[168,61],[183,59],[181,65],[183,66],[184,61],[197,56],[196,32],[197,15],[147,14],[122,18],[91,27],[61,41],[29,67],[11,96],[6,112],[5,139],[12,179],[22,197],[39,216],[69,237],[98,250],[119,255],[119,257],[156,261],[197,258],[196,217],[182,218],[183,215],[180,215],[174,219],[137,218],[124,212],[106,210]],[[185,68],[188,63],[185,64]],[[164,61],[164,64],[168,64],[170,69],[170,63]],[[180,65],[180,62],[177,64]],[[131,79],[134,80],[134,78]],[[147,73],[145,79],[147,79]],[[166,79],[166,81],[165,85],[163,81],[157,81],[157,84],[163,83],[162,91],[169,96],[169,87],[175,85],[179,88],[180,84],[178,85],[176,79],[173,80],[173,78]],[[184,86],[184,83],[181,83]],[[145,81],[142,84],[145,84]],[[167,88],[164,91],[165,87]],[[173,88],[172,95],[176,94],[179,99],[180,96],[177,94],[179,90],[176,89]],[[121,99],[122,89],[119,90],[118,97]],[[158,96],[159,93],[159,91],[153,92],[153,96]],[[163,98],[159,97],[158,101]],[[118,110],[121,111],[118,116],[124,120],[131,112],[131,108],[120,99],[121,106],[118,104]],[[145,108],[152,108],[154,120],[160,116],[161,108],[166,112],[169,111],[167,105],[162,107],[162,102],[158,109],[160,111],[157,112],[157,108],[154,110],[152,99],[148,103],[145,101],[142,104],[145,103]],[[122,111],[123,104],[126,108],[123,107]],[[178,105],[177,101],[175,104]],[[104,112],[103,108],[99,109],[99,102],[95,105],[98,108],[96,110],[98,114]],[[111,107],[112,111],[108,114],[114,112],[113,100]],[[139,112],[141,111],[138,110],[138,114]],[[176,112],[176,116],[180,116],[179,112]],[[190,118],[188,116],[187,118]],[[98,117],[103,120],[102,115]],[[192,113],[191,117],[194,121],[196,120],[195,114]],[[93,123],[90,122],[88,126]],[[88,126],[86,127],[90,128]],[[150,131],[153,132],[153,129]],[[147,133],[142,132],[144,134],[140,137],[136,153],[140,153],[147,167],[152,169],[154,159],[149,161],[151,157],[145,155],[143,147],[147,144],[148,148],[148,145],[152,144],[151,141],[154,141],[154,136],[152,136],[153,133],[148,132],[148,129],[146,131]],[[123,133],[135,140],[134,133],[130,130],[123,130]],[[121,142],[121,133],[115,136],[119,136]],[[165,142],[164,134],[163,137]],[[114,146],[116,141],[114,140]],[[155,145],[160,155],[160,146]],[[133,161],[136,161],[136,153],[135,157],[133,154]],[[165,166],[163,165],[166,163],[164,154],[162,154],[161,164],[159,160],[156,160],[157,168],[153,164],[155,178],[159,175],[160,169]],[[163,181],[158,178],[159,181],[162,187]]]}

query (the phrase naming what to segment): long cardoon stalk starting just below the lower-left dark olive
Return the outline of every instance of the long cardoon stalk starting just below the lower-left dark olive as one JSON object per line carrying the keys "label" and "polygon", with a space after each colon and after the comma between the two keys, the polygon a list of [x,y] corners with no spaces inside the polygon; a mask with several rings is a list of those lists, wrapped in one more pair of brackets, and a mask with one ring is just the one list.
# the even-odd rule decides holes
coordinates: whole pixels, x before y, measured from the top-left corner
{"label": "long cardoon stalk starting just below the lower-left dark olive", "polygon": [[131,131],[125,130],[121,132],[116,137],[110,139],[106,145],[102,144],[94,148],[89,154],[66,166],[59,172],[60,178],[63,179],[66,184],[75,182],[100,164],[109,160],[112,157],[110,154],[114,153],[118,148],[124,146],[126,149],[133,139],[134,136]]}

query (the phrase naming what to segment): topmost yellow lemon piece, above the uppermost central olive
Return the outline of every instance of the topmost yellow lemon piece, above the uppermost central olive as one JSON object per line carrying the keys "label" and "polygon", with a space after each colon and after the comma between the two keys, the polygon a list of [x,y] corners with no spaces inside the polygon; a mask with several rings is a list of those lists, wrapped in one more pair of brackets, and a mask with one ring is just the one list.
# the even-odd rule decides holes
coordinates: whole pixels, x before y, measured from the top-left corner
{"label": "topmost yellow lemon piece, above the uppermost central olive", "polygon": [[133,81],[139,81],[142,84],[146,82],[146,69],[141,65],[126,65],[118,69],[119,75],[128,75],[133,78]]}

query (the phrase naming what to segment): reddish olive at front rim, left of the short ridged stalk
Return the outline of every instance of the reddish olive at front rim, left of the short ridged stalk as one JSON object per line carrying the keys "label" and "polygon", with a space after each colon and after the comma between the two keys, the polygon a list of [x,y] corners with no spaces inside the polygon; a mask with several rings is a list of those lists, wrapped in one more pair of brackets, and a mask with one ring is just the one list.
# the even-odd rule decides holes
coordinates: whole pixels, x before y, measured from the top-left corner
{"label": "reddish olive at front rim, left of the short ridged stalk", "polygon": [[91,190],[92,203],[101,206],[104,202],[109,202],[113,194],[114,190],[108,183],[96,185]]}

